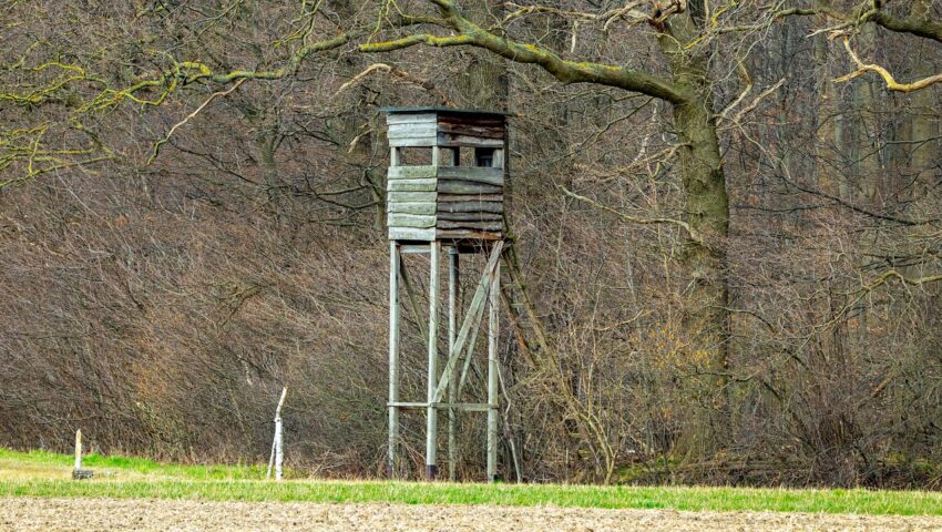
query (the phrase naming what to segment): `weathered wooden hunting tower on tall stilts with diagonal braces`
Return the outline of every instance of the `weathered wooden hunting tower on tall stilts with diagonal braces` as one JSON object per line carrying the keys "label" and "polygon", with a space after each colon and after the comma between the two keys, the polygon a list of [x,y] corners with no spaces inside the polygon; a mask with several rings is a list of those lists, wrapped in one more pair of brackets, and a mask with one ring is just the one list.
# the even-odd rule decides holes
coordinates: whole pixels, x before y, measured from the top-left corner
{"label": "weathered wooden hunting tower on tall stilts with diagonal braces", "polygon": [[[426,475],[438,473],[438,413],[448,412],[449,478],[457,462],[458,412],[487,412],[488,479],[496,474],[498,308],[500,258],[504,237],[506,115],[451,108],[383,108],[389,125],[387,181],[389,227],[389,456],[388,470],[399,470],[399,413],[426,410]],[[448,254],[448,349],[439,350],[439,269]],[[409,291],[403,254],[429,254],[428,392],[424,401],[399,397],[400,282]],[[462,254],[487,254],[484,272],[459,324]],[[461,402],[481,328],[488,311],[487,402]],[[439,371],[439,360],[444,367]]]}

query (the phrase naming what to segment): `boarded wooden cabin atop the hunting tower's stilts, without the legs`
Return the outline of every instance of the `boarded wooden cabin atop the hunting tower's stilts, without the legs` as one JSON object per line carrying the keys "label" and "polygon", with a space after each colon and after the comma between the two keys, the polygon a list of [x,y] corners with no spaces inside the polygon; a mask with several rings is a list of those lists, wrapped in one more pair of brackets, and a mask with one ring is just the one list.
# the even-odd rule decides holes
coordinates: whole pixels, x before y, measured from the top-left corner
{"label": "boarded wooden cabin atop the hunting tower's stilts, without the legs", "polygon": [[503,238],[506,115],[451,108],[382,108],[391,150],[390,241]]}

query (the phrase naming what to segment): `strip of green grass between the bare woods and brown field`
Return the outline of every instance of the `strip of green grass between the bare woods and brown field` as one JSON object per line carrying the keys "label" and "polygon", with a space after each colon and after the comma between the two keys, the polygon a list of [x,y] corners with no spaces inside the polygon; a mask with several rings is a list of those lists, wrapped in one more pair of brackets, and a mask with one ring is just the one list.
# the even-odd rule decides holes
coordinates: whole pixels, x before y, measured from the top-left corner
{"label": "strip of green grass between the bare woods and brown field", "polygon": [[[0,450],[2,469],[45,464],[63,477],[69,457]],[[98,466],[95,466],[98,461]],[[264,468],[174,466],[121,457],[86,460],[91,469],[113,468],[145,478],[31,478],[0,474],[0,497],[96,497],[120,499],[198,499],[209,501],[388,502],[402,504],[495,504],[674,509],[690,511],[777,511],[895,515],[942,515],[942,492],[870,490],[786,490],[693,487],[597,487],[561,484],[454,484],[446,482],[245,480]],[[25,471],[25,469],[24,469]],[[103,472],[103,471],[102,471]],[[173,478],[167,478],[173,477]]]}

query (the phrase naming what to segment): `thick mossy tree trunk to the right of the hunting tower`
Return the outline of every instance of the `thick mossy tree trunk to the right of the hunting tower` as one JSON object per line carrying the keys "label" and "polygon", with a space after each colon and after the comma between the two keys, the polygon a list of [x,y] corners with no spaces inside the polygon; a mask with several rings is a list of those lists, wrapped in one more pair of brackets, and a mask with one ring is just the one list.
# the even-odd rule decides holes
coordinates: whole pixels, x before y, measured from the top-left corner
{"label": "thick mossy tree trunk to the right of the hunting tower", "polygon": [[688,238],[683,256],[690,283],[686,296],[690,308],[685,332],[696,369],[688,385],[698,402],[678,450],[689,460],[713,456],[728,444],[730,436],[728,388],[729,290],[726,279],[726,237],[729,198],[716,131],[707,59],[684,45],[699,34],[690,13],[672,18],[661,35],[670,60],[674,82],[692,90],[694,98],[674,105],[680,144],[679,172],[686,194],[686,221],[696,235]]}

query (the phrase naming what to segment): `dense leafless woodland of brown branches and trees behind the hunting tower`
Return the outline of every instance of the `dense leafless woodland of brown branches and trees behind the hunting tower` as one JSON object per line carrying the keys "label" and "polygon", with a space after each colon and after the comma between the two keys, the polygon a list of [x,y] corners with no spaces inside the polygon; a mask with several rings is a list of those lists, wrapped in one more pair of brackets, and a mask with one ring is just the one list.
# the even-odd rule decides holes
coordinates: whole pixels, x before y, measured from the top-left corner
{"label": "dense leafless woodland of brown branches and trees behind the hunting tower", "polygon": [[[504,477],[514,449],[531,481],[942,482],[942,2],[14,0],[0,22],[0,444],[81,427],[259,460],[288,386],[289,461],[380,474],[377,108],[505,105],[553,357],[501,338]],[[418,398],[426,317],[403,318]]]}

